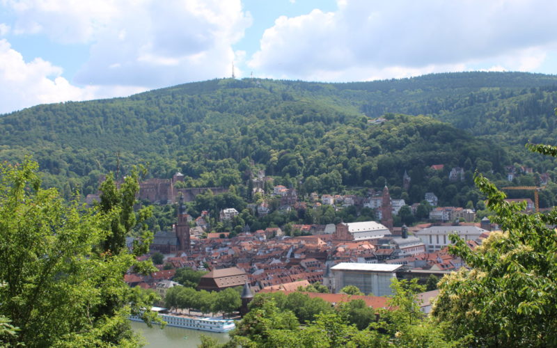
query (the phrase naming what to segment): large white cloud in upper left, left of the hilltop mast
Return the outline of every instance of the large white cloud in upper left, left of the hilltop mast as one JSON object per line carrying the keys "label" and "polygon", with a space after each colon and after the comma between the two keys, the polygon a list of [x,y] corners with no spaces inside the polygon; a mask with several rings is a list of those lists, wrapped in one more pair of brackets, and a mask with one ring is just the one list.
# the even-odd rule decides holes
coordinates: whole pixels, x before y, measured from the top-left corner
{"label": "large white cloud in upper left, left of the hilltop mast", "polygon": [[90,43],[82,85],[157,88],[230,75],[232,45],[251,25],[240,0],[0,0],[15,33]]}

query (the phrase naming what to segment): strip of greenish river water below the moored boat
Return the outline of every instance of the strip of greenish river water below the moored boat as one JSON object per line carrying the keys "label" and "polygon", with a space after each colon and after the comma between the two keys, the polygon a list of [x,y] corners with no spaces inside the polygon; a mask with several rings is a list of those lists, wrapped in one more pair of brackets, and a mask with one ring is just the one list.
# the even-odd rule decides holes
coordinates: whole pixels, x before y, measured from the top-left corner
{"label": "strip of greenish river water below the moored boat", "polygon": [[201,335],[207,335],[217,338],[219,342],[228,341],[228,333],[214,333],[209,331],[199,331],[191,329],[182,329],[173,326],[166,326],[161,330],[160,326],[153,325],[149,328],[143,322],[132,322],[132,328],[136,332],[140,332],[146,338],[148,344],[145,347],[197,347],[201,344]]}

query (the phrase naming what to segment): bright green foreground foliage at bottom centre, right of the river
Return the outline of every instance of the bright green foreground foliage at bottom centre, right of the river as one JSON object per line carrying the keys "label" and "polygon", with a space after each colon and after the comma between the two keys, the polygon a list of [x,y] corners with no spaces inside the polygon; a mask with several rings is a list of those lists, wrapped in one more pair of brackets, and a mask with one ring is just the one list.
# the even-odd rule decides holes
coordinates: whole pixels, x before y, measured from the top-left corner
{"label": "bright green foreground foliage at bottom centre, right of the river", "polygon": [[[444,325],[425,319],[416,303],[423,287],[416,281],[395,281],[389,308],[373,310],[363,301],[336,307],[306,294],[258,294],[251,310],[230,333],[241,347],[458,347],[465,340],[448,340]],[[322,302],[315,306],[313,300]],[[306,308],[306,309],[304,309]],[[308,316],[306,310],[313,313]],[[377,317],[379,316],[379,320]],[[227,347],[205,340],[203,347]]]}

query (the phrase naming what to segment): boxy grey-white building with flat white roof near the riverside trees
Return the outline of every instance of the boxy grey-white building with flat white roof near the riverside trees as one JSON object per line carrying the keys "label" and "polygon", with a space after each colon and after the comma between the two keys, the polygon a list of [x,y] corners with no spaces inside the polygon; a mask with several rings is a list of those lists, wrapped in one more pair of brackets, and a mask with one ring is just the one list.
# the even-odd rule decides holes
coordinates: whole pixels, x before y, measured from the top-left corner
{"label": "boxy grey-white building with flat white roof near the riverside trees", "polygon": [[391,281],[396,278],[400,264],[369,264],[341,262],[331,267],[334,292],[347,285],[354,285],[364,294],[391,296]]}

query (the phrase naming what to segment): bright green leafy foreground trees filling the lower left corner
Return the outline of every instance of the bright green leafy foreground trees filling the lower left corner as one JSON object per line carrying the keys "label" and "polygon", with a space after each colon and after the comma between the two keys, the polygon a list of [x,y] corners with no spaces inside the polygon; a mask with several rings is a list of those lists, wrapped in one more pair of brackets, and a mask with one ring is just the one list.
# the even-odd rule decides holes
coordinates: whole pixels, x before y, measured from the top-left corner
{"label": "bright green leafy foreground trees filling the lower left corner", "polygon": [[[123,282],[130,267],[152,267],[137,264],[125,246],[137,222],[130,210],[137,176],[130,175],[122,189],[107,180],[102,203],[93,210],[68,205],[56,189],[41,189],[37,167],[29,160],[0,166],[2,344],[140,345],[127,317],[154,298]],[[144,252],[148,232],[143,237],[136,253]]]}

